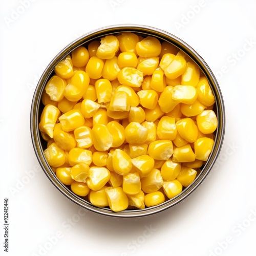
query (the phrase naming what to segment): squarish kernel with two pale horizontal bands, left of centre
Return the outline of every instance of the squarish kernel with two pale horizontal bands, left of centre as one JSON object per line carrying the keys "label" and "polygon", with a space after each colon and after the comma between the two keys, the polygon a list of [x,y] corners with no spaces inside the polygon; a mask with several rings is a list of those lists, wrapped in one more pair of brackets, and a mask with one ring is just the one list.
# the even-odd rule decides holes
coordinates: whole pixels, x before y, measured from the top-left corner
{"label": "squarish kernel with two pale horizontal bands, left of centre", "polygon": [[80,126],[74,130],[77,147],[89,148],[93,144],[92,129],[88,126]]}

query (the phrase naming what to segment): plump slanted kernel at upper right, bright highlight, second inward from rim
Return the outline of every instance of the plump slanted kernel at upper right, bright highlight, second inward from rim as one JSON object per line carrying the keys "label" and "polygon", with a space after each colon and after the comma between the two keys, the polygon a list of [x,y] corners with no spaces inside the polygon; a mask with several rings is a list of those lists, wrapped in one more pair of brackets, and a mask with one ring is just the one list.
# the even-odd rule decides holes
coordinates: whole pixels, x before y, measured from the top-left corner
{"label": "plump slanted kernel at upper right, bright highlight, second inward from rim", "polygon": [[174,60],[170,62],[169,66],[164,70],[164,74],[169,79],[175,79],[185,72],[186,64],[185,58],[177,54]]}

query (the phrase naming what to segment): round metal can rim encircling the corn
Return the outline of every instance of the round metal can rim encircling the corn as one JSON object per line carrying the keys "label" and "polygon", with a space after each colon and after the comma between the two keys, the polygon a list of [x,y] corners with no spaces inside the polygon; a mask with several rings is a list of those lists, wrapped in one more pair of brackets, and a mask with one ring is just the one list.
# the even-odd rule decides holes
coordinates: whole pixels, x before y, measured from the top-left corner
{"label": "round metal can rim encircling the corn", "polygon": [[[138,209],[138,210],[124,210],[121,212],[113,212],[108,208],[98,208],[96,206],[93,206],[90,202],[76,196],[71,190],[69,190],[65,185],[63,185],[58,180],[58,178],[53,173],[51,167],[49,166],[49,164],[47,163],[44,157],[44,150],[42,148],[42,144],[40,141],[40,132],[38,129],[38,123],[39,123],[38,120],[39,120],[39,105],[40,105],[41,95],[45,89],[46,82],[51,76],[57,62],[63,59],[68,54],[70,54],[71,51],[77,48],[78,46],[86,44],[87,42],[95,39],[96,37],[100,38],[107,34],[114,34],[114,33],[120,33],[120,32],[134,32],[134,33],[139,33],[144,35],[156,36],[159,39],[171,42],[172,44],[174,44],[175,46],[183,50],[189,57],[194,59],[194,61],[198,64],[198,66],[204,72],[205,76],[208,78],[212,92],[215,95],[218,127],[216,131],[214,148],[209,156],[208,161],[206,162],[205,166],[201,170],[196,180],[190,186],[185,188],[178,196],[168,201],[165,201],[164,203],[155,207],[150,207],[142,210]],[[69,198],[71,201],[78,204],[79,206],[85,209],[88,209],[90,211],[96,212],[97,214],[111,216],[111,217],[128,217],[128,218],[143,217],[143,216],[157,214],[160,211],[163,211],[165,209],[168,209],[178,204],[179,202],[187,198],[206,178],[212,166],[216,162],[222,147],[224,133],[225,133],[225,107],[224,107],[222,93],[216,77],[208,67],[207,63],[203,60],[203,58],[193,48],[187,45],[186,42],[184,42],[183,40],[181,40],[180,38],[176,37],[173,34],[170,34],[166,31],[163,31],[154,27],[150,27],[150,26],[134,25],[134,24],[113,25],[108,27],[102,27],[100,29],[91,31],[90,33],[84,34],[83,36],[79,37],[78,39],[71,42],[68,46],[63,48],[56,55],[56,57],[50,62],[50,64],[48,65],[44,73],[41,75],[34,92],[32,104],[31,104],[30,130],[31,130],[32,144],[34,147],[36,157],[39,161],[39,164],[41,165],[42,169],[44,170],[49,180],[63,195],[65,195],[67,198]]]}

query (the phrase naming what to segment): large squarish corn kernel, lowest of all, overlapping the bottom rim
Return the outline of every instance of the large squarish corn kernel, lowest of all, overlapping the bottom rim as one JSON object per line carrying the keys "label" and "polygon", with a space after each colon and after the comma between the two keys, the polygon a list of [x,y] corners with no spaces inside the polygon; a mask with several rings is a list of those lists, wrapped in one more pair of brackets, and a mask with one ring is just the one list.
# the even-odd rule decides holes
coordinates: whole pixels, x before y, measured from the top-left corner
{"label": "large squarish corn kernel, lowest of all, overlapping the bottom rim", "polygon": [[118,212],[127,209],[129,201],[121,187],[106,187],[105,192],[111,210]]}

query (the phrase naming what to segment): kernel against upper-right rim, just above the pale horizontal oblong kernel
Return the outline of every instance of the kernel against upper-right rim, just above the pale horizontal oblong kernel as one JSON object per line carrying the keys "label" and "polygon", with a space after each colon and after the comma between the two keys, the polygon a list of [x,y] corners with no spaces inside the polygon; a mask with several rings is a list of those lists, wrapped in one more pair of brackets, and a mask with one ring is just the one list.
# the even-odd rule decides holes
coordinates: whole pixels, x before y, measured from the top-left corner
{"label": "kernel against upper-right rim, just above the pale horizontal oblong kernel", "polygon": [[181,75],[181,84],[196,87],[200,78],[200,68],[195,62],[187,62],[185,72]]}

